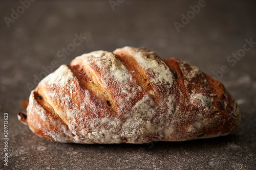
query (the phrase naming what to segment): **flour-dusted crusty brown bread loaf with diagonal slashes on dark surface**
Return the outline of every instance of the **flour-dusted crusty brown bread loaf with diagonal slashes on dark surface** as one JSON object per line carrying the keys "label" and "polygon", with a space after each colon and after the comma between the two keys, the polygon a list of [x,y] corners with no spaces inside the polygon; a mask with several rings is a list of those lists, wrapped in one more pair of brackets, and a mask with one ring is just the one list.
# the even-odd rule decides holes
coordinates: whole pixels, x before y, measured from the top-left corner
{"label": "flour-dusted crusty brown bread loaf with diagonal slashes on dark surface", "polygon": [[145,143],[234,133],[240,111],[196,66],[126,46],[61,65],[31,92],[18,118],[51,141]]}

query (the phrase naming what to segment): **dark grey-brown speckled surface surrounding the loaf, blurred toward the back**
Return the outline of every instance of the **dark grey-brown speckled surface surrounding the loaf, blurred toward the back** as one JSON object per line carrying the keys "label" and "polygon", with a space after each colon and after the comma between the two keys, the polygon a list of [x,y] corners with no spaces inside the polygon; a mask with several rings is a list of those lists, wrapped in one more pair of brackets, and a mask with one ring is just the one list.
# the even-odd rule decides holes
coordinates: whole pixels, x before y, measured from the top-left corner
{"label": "dark grey-brown speckled surface surrounding the loaf, blurred toward the back", "polygon": [[[0,168],[9,169],[255,169],[256,45],[231,66],[227,57],[256,41],[255,1],[206,1],[206,6],[181,28],[189,5],[198,1],[128,1],[112,10],[109,1],[36,1],[8,28],[18,1],[0,2]],[[74,34],[90,32],[67,59],[57,52]],[[25,111],[33,75],[56,60],[68,64],[82,53],[113,51],[125,45],[147,47],[162,58],[177,57],[207,74],[227,65],[221,82],[238,101],[242,123],[236,134],[185,142],[150,144],[74,144],[40,139],[17,119]],[[4,115],[9,115],[9,162],[3,162]]]}

